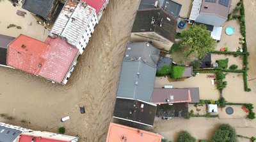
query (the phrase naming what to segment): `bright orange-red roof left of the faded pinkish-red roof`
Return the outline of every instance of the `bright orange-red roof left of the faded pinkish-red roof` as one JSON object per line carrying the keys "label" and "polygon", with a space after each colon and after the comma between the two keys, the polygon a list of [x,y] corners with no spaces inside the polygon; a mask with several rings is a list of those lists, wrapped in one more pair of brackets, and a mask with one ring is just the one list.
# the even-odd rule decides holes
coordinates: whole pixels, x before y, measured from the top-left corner
{"label": "bright orange-red roof left of the faded pinkish-red roof", "polygon": [[39,72],[49,51],[49,44],[26,35],[19,35],[8,46],[7,65],[30,74]]}

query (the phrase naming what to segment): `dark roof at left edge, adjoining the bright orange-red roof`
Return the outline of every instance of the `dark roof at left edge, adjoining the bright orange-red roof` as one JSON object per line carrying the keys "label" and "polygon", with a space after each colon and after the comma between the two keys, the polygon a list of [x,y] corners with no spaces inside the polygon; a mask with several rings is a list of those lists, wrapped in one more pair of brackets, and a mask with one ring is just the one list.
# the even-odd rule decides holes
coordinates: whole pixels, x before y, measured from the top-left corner
{"label": "dark roof at left edge, adjoining the bright orange-red roof", "polygon": [[0,35],[0,65],[6,65],[7,46],[14,39],[12,36]]}

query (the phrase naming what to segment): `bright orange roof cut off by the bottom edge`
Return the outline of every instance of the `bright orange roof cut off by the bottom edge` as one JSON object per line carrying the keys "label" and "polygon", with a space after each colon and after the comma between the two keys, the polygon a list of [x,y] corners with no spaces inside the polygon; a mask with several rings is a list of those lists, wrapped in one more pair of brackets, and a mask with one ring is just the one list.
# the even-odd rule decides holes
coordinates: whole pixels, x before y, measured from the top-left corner
{"label": "bright orange roof cut off by the bottom edge", "polygon": [[[124,138],[124,139],[122,139]],[[147,141],[161,142],[162,136],[116,123],[110,123],[106,142]]]}

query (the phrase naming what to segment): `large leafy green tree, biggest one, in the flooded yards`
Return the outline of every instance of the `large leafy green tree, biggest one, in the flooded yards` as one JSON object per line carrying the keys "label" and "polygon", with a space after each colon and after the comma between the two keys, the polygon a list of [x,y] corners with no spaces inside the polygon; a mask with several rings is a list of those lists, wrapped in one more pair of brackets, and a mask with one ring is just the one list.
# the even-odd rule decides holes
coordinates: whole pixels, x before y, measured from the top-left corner
{"label": "large leafy green tree, biggest one, in the flooded yards", "polygon": [[[206,26],[191,26],[181,33],[181,45],[184,47],[186,58],[190,60],[204,58],[209,51],[214,51],[216,42],[211,38]],[[194,58],[194,59],[191,59]]]}

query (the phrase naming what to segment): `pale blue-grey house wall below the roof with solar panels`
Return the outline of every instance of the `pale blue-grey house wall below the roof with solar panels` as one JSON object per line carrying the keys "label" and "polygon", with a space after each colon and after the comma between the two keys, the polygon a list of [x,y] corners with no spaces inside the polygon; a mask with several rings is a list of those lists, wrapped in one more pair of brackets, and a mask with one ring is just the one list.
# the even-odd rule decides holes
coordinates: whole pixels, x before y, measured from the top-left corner
{"label": "pale blue-grey house wall below the roof with solar panels", "polygon": [[220,27],[227,19],[218,17],[216,15],[207,15],[200,13],[196,18],[195,22],[201,22],[212,26]]}

